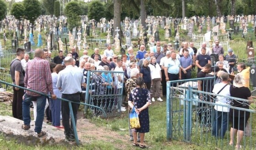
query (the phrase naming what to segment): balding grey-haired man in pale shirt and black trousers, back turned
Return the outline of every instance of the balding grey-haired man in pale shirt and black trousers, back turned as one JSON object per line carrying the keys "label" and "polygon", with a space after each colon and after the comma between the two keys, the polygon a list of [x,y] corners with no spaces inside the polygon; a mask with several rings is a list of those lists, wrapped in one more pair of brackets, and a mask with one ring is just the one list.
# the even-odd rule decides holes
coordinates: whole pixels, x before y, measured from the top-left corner
{"label": "balding grey-haired man in pale shirt and black trousers, back turned", "polygon": [[[67,56],[64,59],[64,64],[66,68],[61,70],[58,74],[57,87],[62,93],[61,98],[67,99],[73,102],[80,102],[80,93],[82,92],[81,85],[86,87],[85,78],[83,73],[76,69],[73,66],[74,59],[72,57]],[[72,103],[72,110],[75,118],[75,125],[77,120],[77,110],[79,108],[79,104]],[[62,125],[64,126],[64,134],[66,140],[75,140],[72,120],[69,124],[69,102],[62,101],[61,104],[61,115],[62,115]]]}

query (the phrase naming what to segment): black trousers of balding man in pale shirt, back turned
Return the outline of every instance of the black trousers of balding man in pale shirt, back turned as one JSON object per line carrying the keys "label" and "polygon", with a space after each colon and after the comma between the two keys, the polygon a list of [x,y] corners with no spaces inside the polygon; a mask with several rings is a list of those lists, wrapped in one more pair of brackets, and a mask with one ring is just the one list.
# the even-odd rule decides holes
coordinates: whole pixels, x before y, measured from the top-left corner
{"label": "black trousers of balding man in pale shirt, back turned", "polygon": [[[61,98],[79,103],[80,102],[80,93],[62,94]],[[80,105],[75,104],[75,103],[71,103],[71,105],[72,105],[72,110],[73,110],[73,114],[74,114],[74,118],[75,118],[75,125],[76,125],[77,110]],[[66,139],[75,139],[72,120],[70,120],[70,123],[69,123],[69,115],[70,115],[69,102],[62,101],[61,115],[62,115],[62,125],[64,126],[64,134],[65,134]]]}

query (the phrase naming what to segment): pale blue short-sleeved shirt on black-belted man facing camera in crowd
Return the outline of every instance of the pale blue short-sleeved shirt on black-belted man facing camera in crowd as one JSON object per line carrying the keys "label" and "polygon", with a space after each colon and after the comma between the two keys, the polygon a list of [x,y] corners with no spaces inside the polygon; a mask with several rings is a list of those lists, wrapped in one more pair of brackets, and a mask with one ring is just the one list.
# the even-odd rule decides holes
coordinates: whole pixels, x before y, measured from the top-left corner
{"label": "pale blue short-sleeved shirt on black-belted man facing camera in crowd", "polygon": [[177,75],[180,71],[180,61],[178,59],[171,59],[171,57],[168,59],[168,61],[165,61],[165,67],[168,68],[168,73]]}

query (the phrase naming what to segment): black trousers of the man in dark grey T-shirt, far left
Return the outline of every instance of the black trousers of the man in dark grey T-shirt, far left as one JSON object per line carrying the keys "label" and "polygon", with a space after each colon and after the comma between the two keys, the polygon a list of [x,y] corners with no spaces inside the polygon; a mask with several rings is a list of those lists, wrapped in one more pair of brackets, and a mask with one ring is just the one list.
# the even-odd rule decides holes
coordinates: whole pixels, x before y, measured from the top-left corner
{"label": "black trousers of the man in dark grey T-shirt, far left", "polygon": [[[19,86],[25,87],[24,84],[20,84]],[[12,116],[19,120],[22,120],[22,96],[24,95],[24,90],[19,89],[15,90],[13,86],[13,99],[12,99]]]}

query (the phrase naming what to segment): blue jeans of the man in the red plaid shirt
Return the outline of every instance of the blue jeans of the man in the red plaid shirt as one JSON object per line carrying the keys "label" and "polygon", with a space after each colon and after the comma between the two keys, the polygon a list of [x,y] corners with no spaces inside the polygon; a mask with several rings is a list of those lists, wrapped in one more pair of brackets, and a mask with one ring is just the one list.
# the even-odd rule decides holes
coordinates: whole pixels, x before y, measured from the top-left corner
{"label": "blue jeans of the man in the red plaid shirt", "polygon": [[24,125],[30,125],[30,103],[31,101],[37,101],[37,119],[35,123],[35,132],[40,133],[43,125],[43,117],[44,117],[44,107],[46,104],[46,96],[31,96],[24,95],[24,100],[22,102],[22,115]]}

